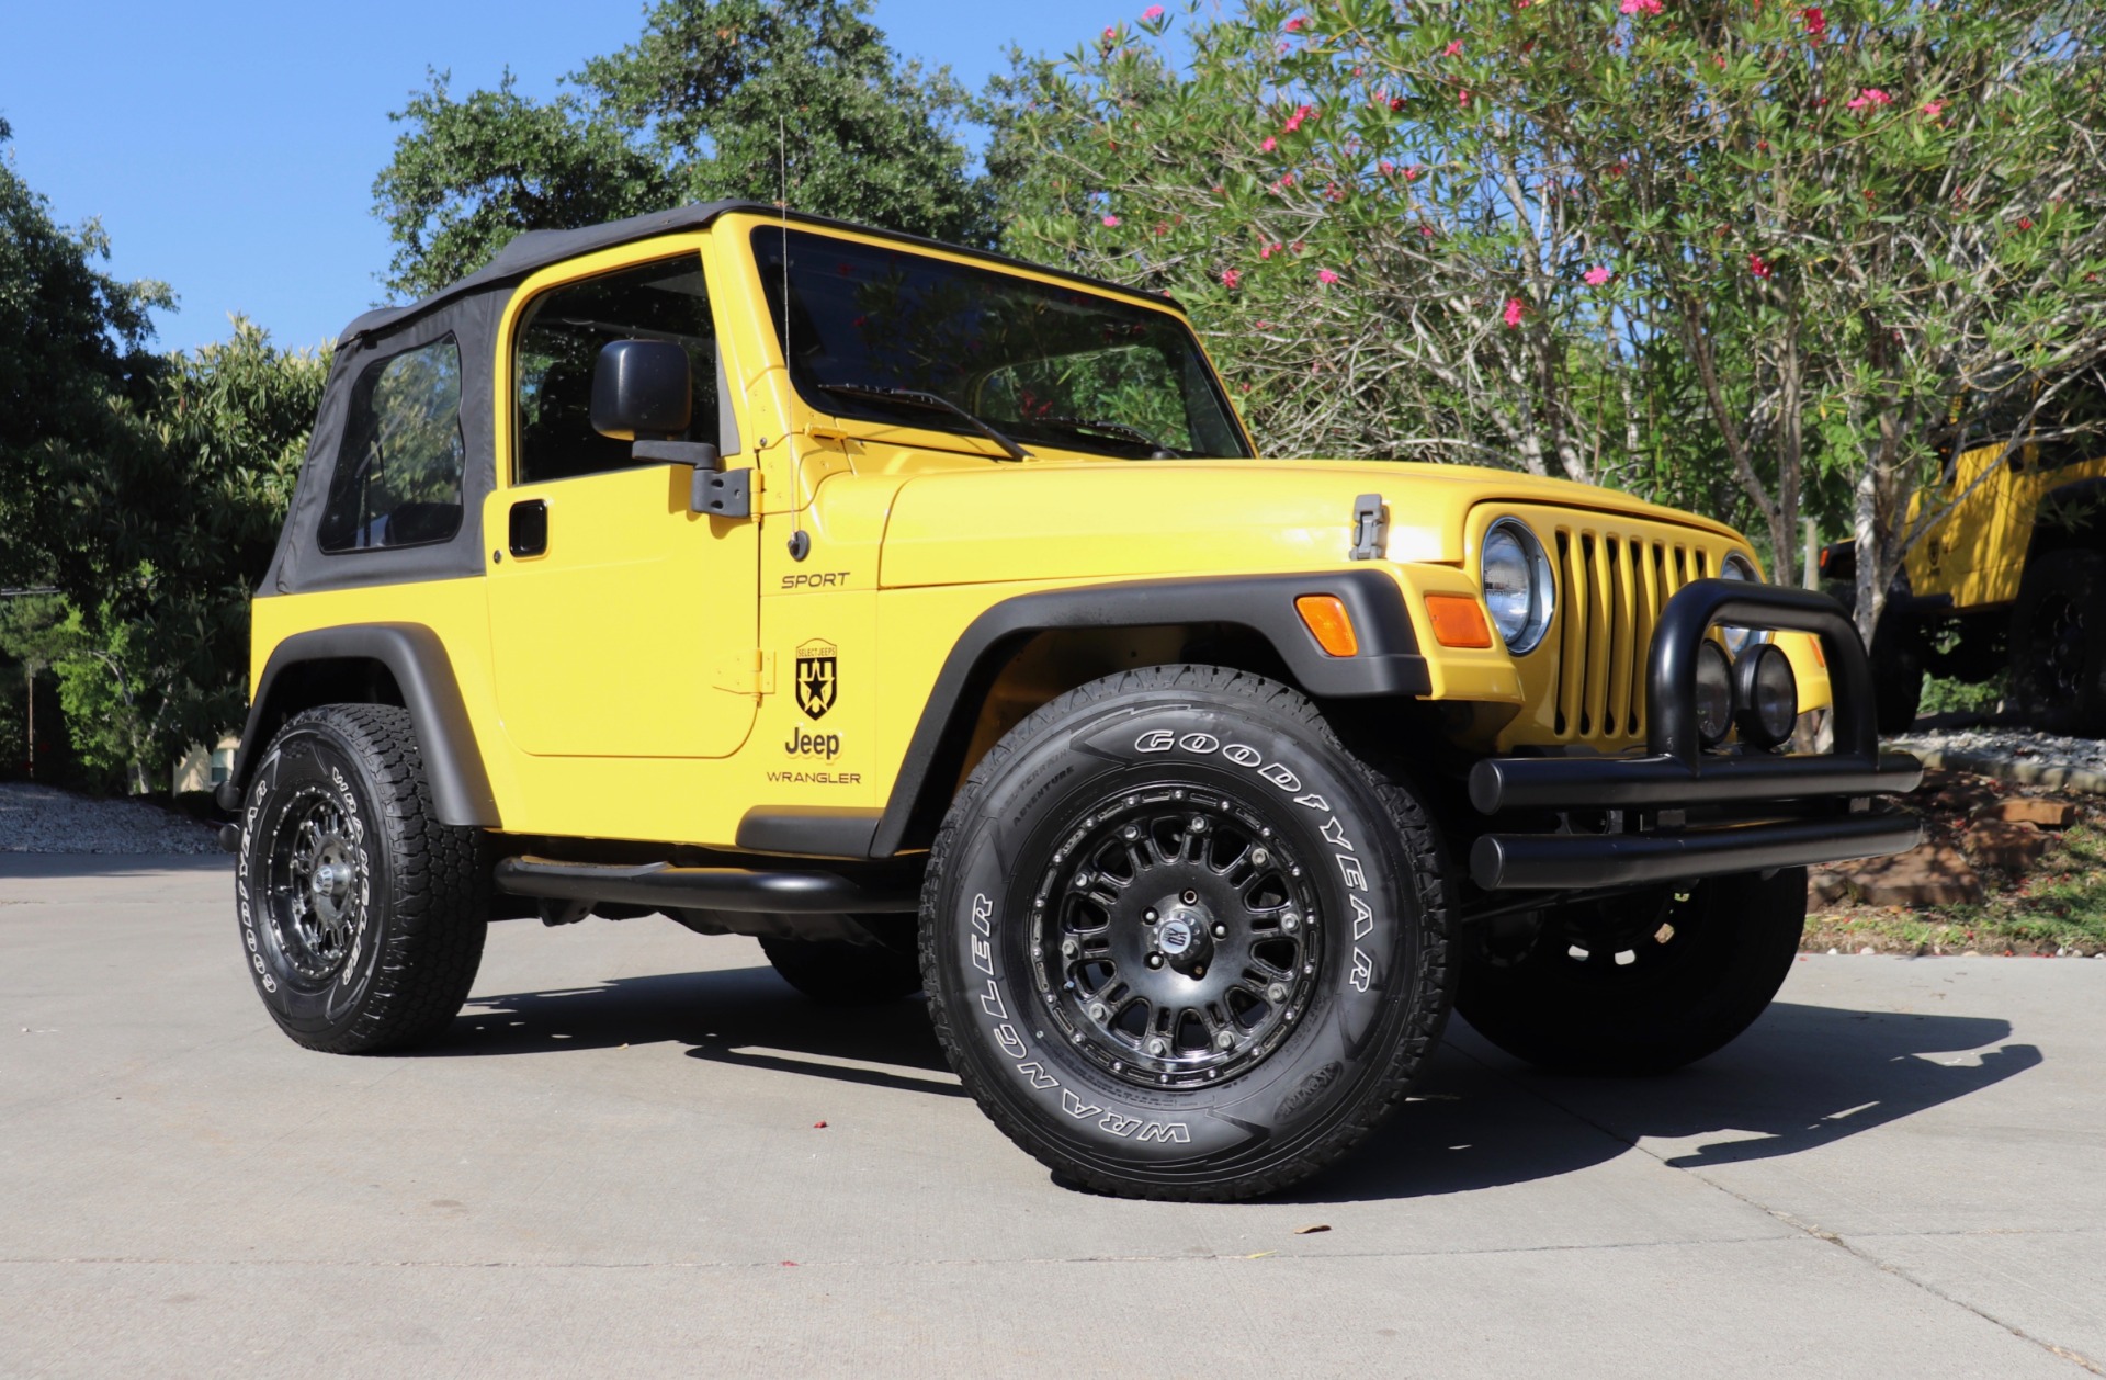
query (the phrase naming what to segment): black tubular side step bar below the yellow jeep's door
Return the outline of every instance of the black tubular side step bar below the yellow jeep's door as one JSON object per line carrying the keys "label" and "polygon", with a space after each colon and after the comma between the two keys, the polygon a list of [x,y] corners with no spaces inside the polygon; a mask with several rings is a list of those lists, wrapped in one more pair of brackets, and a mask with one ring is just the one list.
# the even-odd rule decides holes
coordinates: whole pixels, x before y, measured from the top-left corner
{"label": "black tubular side step bar below the yellow jeep's door", "polygon": [[863,887],[838,872],[750,872],[676,868],[670,862],[598,864],[505,857],[497,889],[558,902],[617,902],[693,910],[777,914],[908,914],[920,910],[912,885]]}

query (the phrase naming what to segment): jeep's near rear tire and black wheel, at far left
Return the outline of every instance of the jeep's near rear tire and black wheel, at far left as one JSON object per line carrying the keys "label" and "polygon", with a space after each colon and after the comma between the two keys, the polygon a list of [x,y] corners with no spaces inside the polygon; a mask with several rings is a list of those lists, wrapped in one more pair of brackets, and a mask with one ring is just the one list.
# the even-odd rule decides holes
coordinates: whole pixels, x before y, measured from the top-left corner
{"label": "jeep's near rear tire and black wheel, at far left", "polygon": [[406,710],[324,704],[257,763],[236,906],[249,975],[310,1049],[379,1053],[444,1030],[489,927],[482,834],[440,824]]}

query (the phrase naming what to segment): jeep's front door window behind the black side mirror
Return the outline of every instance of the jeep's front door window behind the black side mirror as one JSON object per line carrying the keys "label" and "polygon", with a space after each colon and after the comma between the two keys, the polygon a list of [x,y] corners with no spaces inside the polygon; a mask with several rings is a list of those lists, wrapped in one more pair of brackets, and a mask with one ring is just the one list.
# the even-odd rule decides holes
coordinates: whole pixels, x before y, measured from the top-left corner
{"label": "jeep's front door window behind the black side mirror", "polygon": [[695,255],[558,287],[535,299],[512,352],[518,482],[625,470],[630,442],[592,430],[592,369],[617,339],[687,348],[695,411],[687,436],[718,440],[716,329]]}

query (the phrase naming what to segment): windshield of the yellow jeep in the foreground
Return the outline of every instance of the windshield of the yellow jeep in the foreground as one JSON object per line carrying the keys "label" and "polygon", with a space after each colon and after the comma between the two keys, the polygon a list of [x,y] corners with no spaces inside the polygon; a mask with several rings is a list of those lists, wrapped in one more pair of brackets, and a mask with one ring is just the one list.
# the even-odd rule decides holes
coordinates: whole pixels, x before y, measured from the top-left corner
{"label": "windshield of the yellow jeep in the foreground", "polygon": [[882,396],[925,392],[1026,447],[1127,459],[1251,453],[1192,331],[1169,312],[769,225],[754,232],[754,257],[777,335],[786,251],[783,354],[813,407],[975,434],[965,417]]}

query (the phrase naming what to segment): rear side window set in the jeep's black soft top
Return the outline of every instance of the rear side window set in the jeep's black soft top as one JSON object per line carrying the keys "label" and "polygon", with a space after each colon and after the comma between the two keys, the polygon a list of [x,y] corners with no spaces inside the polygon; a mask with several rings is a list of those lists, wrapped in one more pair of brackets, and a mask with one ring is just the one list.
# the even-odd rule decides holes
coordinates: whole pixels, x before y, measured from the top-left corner
{"label": "rear side window set in the jeep's black soft top", "polygon": [[324,552],[446,541],[461,531],[461,348],[442,341],[366,364],[316,533]]}

